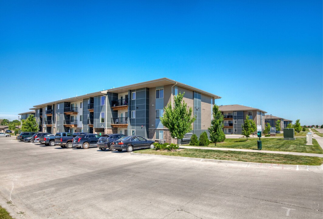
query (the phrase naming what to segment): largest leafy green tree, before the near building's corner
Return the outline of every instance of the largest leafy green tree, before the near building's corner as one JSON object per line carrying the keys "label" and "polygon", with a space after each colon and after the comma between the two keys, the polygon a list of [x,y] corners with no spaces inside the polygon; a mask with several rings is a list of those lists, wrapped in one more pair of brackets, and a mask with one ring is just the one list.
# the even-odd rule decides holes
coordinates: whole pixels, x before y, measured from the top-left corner
{"label": "largest leafy green tree, before the near building's corner", "polygon": [[183,138],[185,133],[192,130],[192,123],[196,119],[192,116],[192,108],[187,109],[185,101],[182,103],[183,96],[184,93],[181,92],[174,96],[174,108],[172,104],[168,104],[160,118],[161,123],[169,129],[172,138]]}

